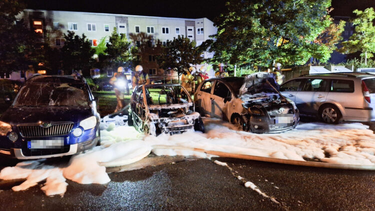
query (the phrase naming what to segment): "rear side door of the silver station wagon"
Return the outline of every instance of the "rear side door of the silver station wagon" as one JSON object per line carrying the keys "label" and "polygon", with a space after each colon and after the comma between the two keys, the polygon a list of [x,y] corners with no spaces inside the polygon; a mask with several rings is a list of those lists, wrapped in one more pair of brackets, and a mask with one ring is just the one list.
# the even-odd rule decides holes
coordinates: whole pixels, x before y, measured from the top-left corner
{"label": "rear side door of the silver station wagon", "polygon": [[325,102],[329,79],[307,78],[301,91],[295,95],[295,104],[299,112],[316,114],[319,106]]}

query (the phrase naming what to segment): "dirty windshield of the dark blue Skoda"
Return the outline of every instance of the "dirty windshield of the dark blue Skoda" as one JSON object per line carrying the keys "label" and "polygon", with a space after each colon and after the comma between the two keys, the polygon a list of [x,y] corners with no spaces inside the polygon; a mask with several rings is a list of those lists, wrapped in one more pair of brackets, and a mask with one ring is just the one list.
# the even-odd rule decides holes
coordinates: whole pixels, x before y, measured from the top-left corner
{"label": "dirty windshield of the dark blue Skoda", "polygon": [[29,83],[23,86],[13,106],[87,106],[84,83]]}

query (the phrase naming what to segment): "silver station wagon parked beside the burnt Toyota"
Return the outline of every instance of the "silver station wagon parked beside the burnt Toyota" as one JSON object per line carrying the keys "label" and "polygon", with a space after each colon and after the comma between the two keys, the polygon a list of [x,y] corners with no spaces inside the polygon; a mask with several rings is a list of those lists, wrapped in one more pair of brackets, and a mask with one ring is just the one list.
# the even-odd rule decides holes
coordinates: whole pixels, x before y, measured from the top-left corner
{"label": "silver station wagon parked beside the burnt Toyota", "polygon": [[375,75],[359,72],[307,74],[281,84],[300,114],[326,123],[375,121]]}

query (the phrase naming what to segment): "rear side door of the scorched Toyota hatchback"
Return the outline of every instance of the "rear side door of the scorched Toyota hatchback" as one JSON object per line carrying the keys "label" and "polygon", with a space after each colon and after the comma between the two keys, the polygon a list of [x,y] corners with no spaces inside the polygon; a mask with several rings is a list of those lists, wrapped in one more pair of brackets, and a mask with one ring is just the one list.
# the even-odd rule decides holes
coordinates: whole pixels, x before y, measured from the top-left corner
{"label": "rear side door of the scorched Toyota hatchback", "polygon": [[199,105],[201,114],[210,115],[211,110],[211,90],[214,80],[206,80],[200,86],[200,89],[197,91],[195,103]]}

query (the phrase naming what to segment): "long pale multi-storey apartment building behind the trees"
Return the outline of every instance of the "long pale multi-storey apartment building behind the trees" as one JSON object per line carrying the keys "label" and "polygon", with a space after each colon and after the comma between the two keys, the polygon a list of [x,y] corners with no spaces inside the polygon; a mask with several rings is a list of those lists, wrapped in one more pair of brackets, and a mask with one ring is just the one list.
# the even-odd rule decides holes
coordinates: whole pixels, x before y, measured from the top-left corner
{"label": "long pale multi-storey apartment building behind the trees", "polygon": [[[114,27],[118,33],[125,33],[128,38],[130,33],[144,32],[147,35],[152,35],[154,40],[160,40],[163,44],[166,40],[183,35],[190,40],[195,40],[196,44],[200,45],[209,38],[209,35],[215,34],[217,31],[213,22],[205,17],[191,19],[25,9],[19,18],[23,18],[30,28],[39,32],[41,39],[52,47],[61,47],[64,43],[63,33],[67,33],[69,30],[79,35],[84,33],[93,47],[103,37],[109,41]],[[133,41],[134,45],[139,44],[139,41]],[[202,56],[208,58],[212,55],[205,52]],[[145,56],[141,60],[150,61],[144,62],[143,68],[148,70],[151,76],[173,74],[159,69],[154,55]]]}

